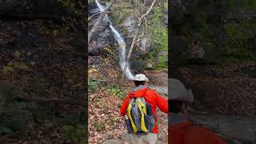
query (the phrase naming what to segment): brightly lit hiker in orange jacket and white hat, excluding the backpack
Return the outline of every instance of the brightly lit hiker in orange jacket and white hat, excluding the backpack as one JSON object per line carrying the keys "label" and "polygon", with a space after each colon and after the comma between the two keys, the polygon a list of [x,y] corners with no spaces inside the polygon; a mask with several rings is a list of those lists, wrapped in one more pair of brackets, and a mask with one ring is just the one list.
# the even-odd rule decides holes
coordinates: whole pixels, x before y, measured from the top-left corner
{"label": "brightly lit hiker in orange jacket and white hat, excluding the backpack", "polygon": [[[166,114],[168,113],[168,102],[165,98],[162,98],[159,94],[157,94],[154,90],[149,89],[146,86],[146,82],[148,82],[148,78],[144,74],[137,74],[134,78],[134,84],[137,86],[134,90],[130,91],[126,99],[124,100],[120,112],[124,116],[126,115],[126,110],[130,102],[130,98],[143,97],[146,102],[150,104],[152,107],[152,113],[156,116],[156,108],[162,110]],[[154,144],[157,141],[158,134],[158,126],[157,119],[154,117],[154,129],[147,135],[135,135],[130,134],[130,143],[142,143],[149,142],[150,144]]]}

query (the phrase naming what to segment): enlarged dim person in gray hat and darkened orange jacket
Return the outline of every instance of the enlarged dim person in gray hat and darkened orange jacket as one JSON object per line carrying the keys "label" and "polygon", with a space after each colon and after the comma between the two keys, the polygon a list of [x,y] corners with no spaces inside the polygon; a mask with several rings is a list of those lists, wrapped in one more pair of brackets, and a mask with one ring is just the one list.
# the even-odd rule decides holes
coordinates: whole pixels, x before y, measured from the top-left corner
{"label": "enlarged dim person in gray hat and darkened orange jacket", "polygon": [[171,144],[224,144],[222,138],[212,131],[194,125],[188,115],[189,104],[194,101],[191,90],[187,91],[182,82],[169,79],[170,122],[168,141]]}

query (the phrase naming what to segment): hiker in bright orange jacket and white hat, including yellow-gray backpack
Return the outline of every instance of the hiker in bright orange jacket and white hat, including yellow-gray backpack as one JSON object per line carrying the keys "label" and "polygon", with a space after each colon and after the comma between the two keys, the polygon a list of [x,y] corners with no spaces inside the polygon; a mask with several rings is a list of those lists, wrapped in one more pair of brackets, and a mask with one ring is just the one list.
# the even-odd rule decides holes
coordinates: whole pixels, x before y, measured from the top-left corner
{"label": "hiker in bright orange jacket and white hat, including yellow-gray backpack", "polygon": [[148,78],[137,74],[134,78],[135,88],[125,98],[120,112],[126,116],[126,127],[131,144],[157,141],[158,126],[156,108],[168,113],[168,101],[146,86]]}

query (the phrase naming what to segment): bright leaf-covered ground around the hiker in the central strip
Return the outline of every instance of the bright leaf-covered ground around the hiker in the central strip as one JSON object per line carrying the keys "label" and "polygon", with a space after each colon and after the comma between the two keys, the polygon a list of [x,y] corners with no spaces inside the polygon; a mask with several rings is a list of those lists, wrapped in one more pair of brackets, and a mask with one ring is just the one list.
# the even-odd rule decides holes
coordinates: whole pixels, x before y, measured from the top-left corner
{"label": "bright leaf-covered ground around the hiker in the central strip", "polygon": [[[94,59],[100,62],[93,64]],[[120,83],[121,72],[113,58],[89,57],[89,67],[89,78],[104,82],[89,94],[89,143],[121,138],[126,133],[126,126],[120,107],[126,94],[134,88],[133,82]],[[145,70],[144,73],[150,78],[150,85],[167,86],[167,70]],[[160,110],[157,114],[158,143],[166,143],[168,117]]]}

